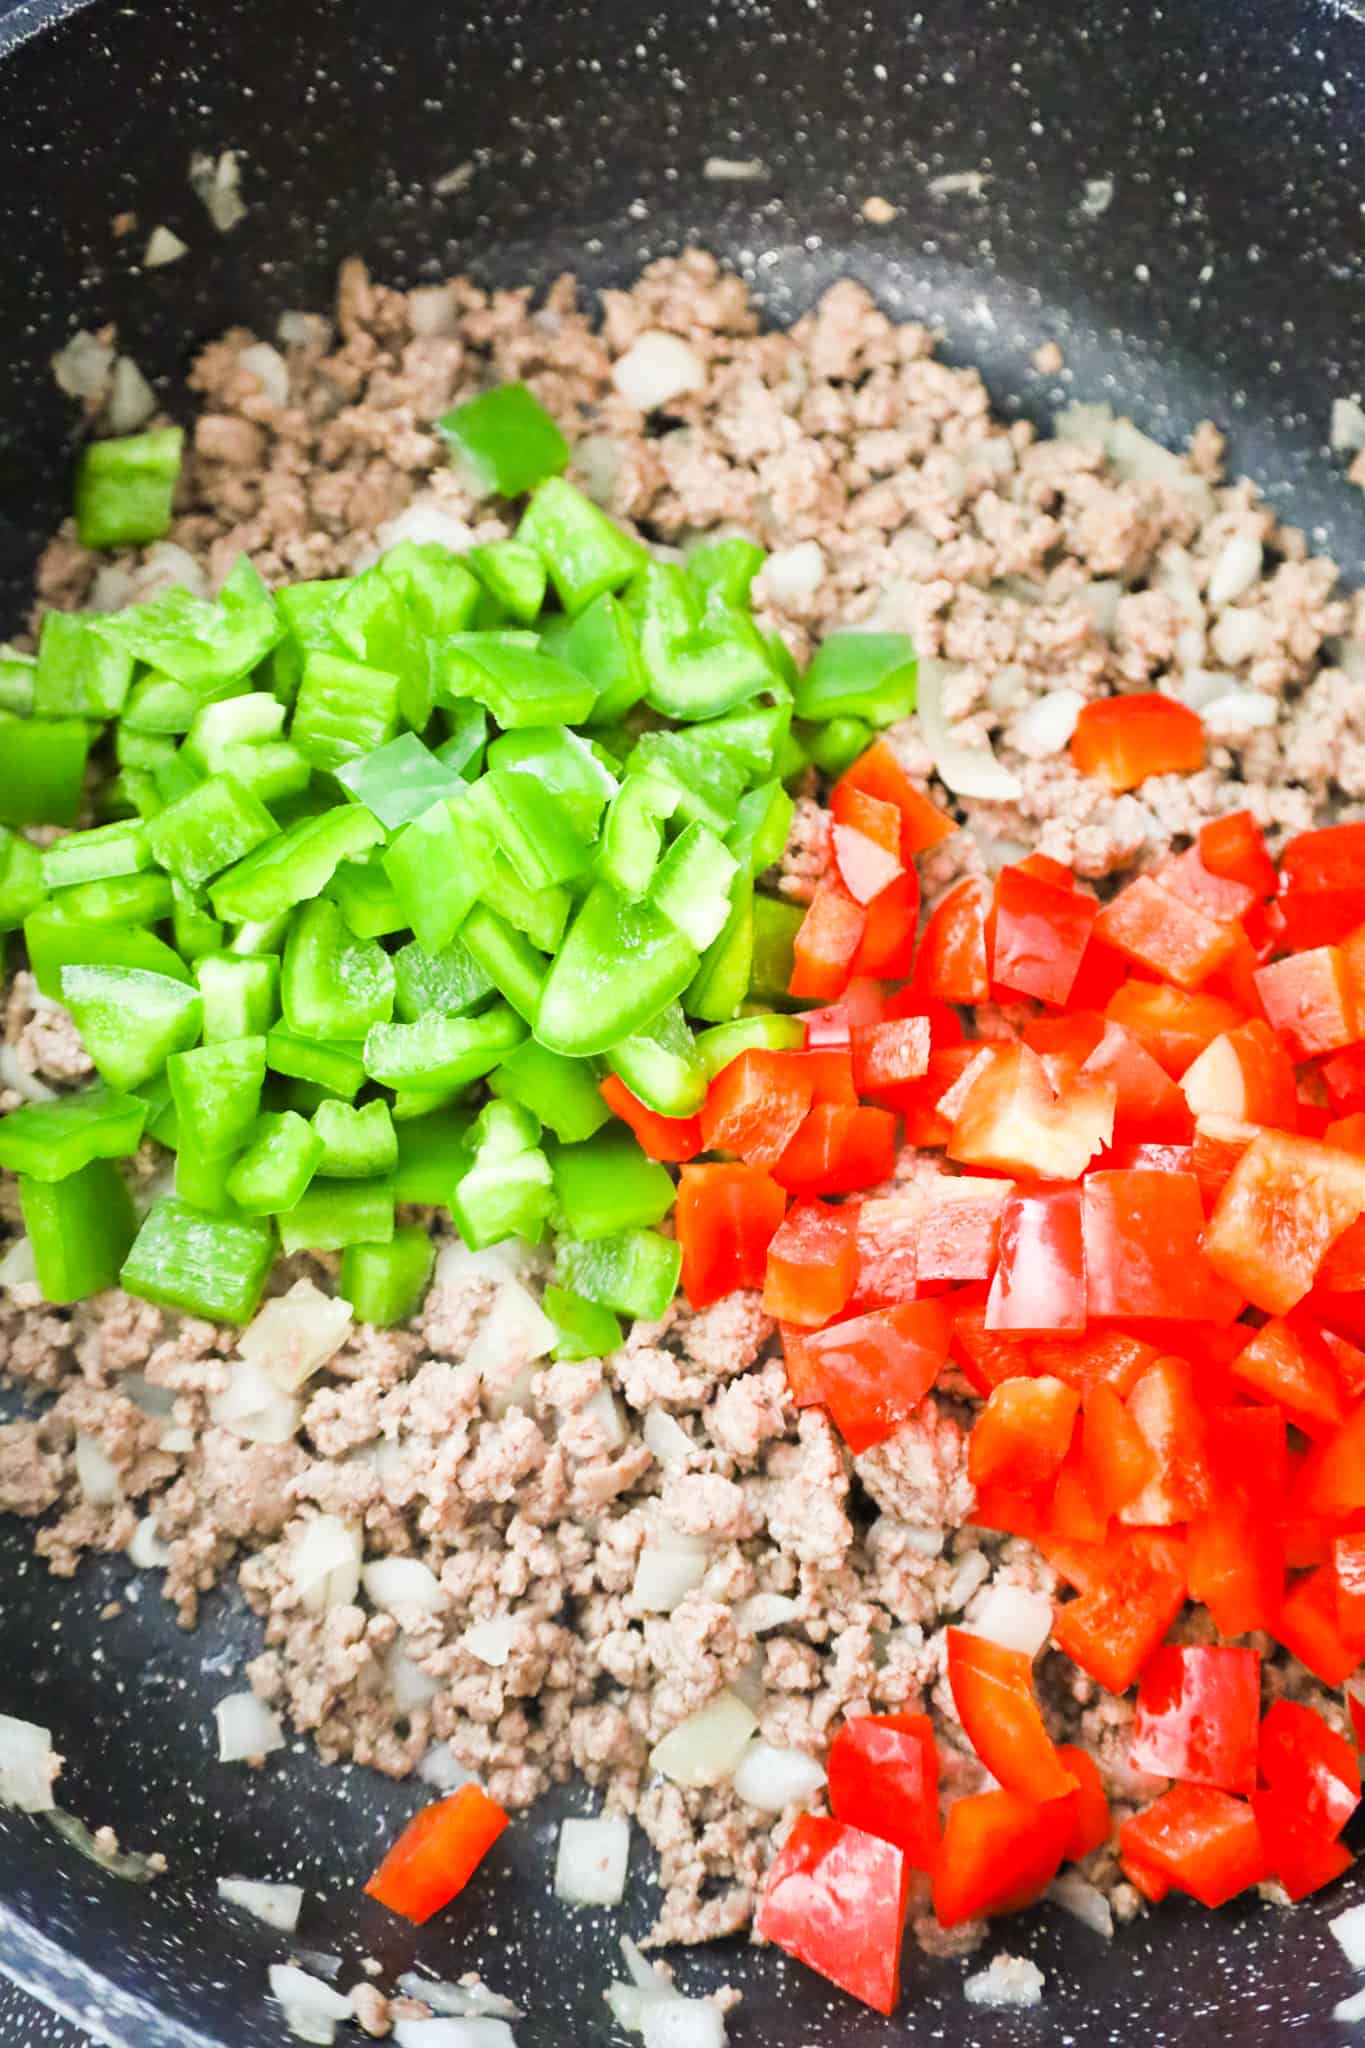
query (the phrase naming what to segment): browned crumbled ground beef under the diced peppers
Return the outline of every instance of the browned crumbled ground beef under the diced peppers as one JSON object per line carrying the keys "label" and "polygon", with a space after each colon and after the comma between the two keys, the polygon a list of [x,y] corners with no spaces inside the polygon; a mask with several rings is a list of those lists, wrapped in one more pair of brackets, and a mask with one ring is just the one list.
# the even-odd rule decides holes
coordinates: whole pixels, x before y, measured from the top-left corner
{"label": "browned crumbled ground beef under the diced peppers", "polygon": [[[612,381],[645,330],[684,338],[704,369],[651,418]],[[604,293],[600,311],[571,276],[540,303],[465,279],[403,295],[348,262],[334,319],[289,332],[305,338],[282,348],[282,401],[244,367],[256,336],[203,350],[168,541],[96,557],[63,528],[39,565],[39,612],[115,608],[172,582],[213,590],[244,551],[282,582],[348,573],[403,537],[495,539],[508,518],[446,467],[432,420],[520,377],[573,442],[571,475],[616,518],[669,547],[704,528],[761,541],[761,616],[798,657],[845,623],[909,631],[948,664],[950,717],[995,745],[1019,795],[956,807],[970,831],[925,858],[929,903],[1033,846],[1103,885],[1228,809],[1248,805],[1275,840],[1365,801],[1365,606],[1250,485],[1220,481],[1209,424],[1183,461],[1124,455],[1099,418],[1038,440],[995,420],[978,375],[935,360],[933,334],[894,326],[860,285],[763,334],[743,283],[698,250]],[[1054,344],[1036,369],[1060,369]],[[1054,690],[1081,702],[1134,688],[1207,709],[1209,764],[1109,797],[1027,713]],[[890,741],[952,803],[917,725]],[[806,901],[827,860],[829,815],[810,788],[776,885]],[[72,1020],[27,973],[8,991],[4,1044],[0,1108],[90,1071]],[[133,1163],[153,1171],[151,1153]],[[915,1174],[907,1155],[898,1180]],[[0,1227],[16,1227],[12,1186]],[[325,1260],[299,1257],[272,1288],[305,1274],[329,1286]],[[767,1741],[812,1755],[847,1712],[929,1708],[945,1792],[978,1788],[943,1628],[993,1583],[1048,1593],[1052,1573],[1027,1544],[970,1526],[968,1405],[939,1391],[849,1458],[823,1413],[790,1405],[753,1296],[677,1307],[600,1362],[530,1372],[512,1358],[481,1380],[463,1358],[499,1284],[452,1249],[411,1329],[354,1331],[303,1389],[297,1440],[254,1444],[211,1419],[235,1333],[117,1294],[49,1311],[12,1278],[0,1368],[33,1407],[0,1427],[0,1511],[47,1518],[37,1546],[57,1573],[84,1550],[127,1548],[149,1518],[186,1626],[235,1571],[264,1626],[252,1686],[323,1757],[401,1776],[440,1747],[510,1806],[585,1776],[659,1851],[657,1942],[745,1929],[792,1821],[729,1788],[651,1778],[651,1745],[722,1688],[757,1702]],[[657,1448],[651,1415],[673,1425]],[[82,1495],[80,1438],[111,1460],[115,1499]],[[289,1561],[317,1513],[354,1526],[366,1559],[430,1567],[436,1606],[307,1612]],[[671,1614],[634,1593],[657,1532],[708,1556]],[[1117,1812],[1132,1810],[1154,1786],[1126,1763],[1130,1704],[1060,1657],[1040,1671],[1056,1731],[1091,1747]],[[1340,1722],[1302,1671],[1273,1665],[1271,1683]],[[1119,1919],[1138,1911],[1109,1851],[1087,1876]],[[921,1894],[913,1929],[952,1954],[984,1931],[943,1935]],[[383,2034],[389,2017],[372,1993],[360,2023]]]}

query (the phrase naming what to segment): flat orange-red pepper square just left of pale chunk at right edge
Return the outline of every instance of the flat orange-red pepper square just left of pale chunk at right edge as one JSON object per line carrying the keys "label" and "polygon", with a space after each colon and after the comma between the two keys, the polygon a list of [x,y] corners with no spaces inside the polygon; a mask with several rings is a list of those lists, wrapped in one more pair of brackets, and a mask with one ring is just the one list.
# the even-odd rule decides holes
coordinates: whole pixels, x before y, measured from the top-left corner
{"label": "flat orange-red pepper square just left of pale chunk at right edge", "polygon": [[1242,1307],[1203,1257],[1193,1174],[1087,1174],[1083,1237],[1093,1317],[1230,1323]]}

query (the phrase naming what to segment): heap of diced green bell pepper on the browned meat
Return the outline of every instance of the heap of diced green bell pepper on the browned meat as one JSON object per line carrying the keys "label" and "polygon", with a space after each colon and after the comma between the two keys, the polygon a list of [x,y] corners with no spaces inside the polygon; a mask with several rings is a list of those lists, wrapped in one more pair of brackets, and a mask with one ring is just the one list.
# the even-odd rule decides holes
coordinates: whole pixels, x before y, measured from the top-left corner
{"label": "heap of diced green bell pepper on the browned meat", "polygon": [[[516,537],[403,543],[336,582],[49,612],[0,649],[0,932],[23,932],[98,1071],[0,1122],[53,1303],[121,1284],[246,1321],[276,1249],[342,1253],[360,1319],[432,1270],[401,1204],[471,1247],[557,1237],[561,1356],[663,1315],[667,1167],[598,1090],[690,1116],[786,1042],[800,907],[759,887],[788,786],[913,705],[898,635],[804,674],[763,635],[743,539],[655,561],[561,471],[524,385],[440,422]],[[168,530],[180,434],[92,446],[90,547]],[[25,825],[76,825],[39,848]],[[174,1196],[137,1219],[149,1137]]]}

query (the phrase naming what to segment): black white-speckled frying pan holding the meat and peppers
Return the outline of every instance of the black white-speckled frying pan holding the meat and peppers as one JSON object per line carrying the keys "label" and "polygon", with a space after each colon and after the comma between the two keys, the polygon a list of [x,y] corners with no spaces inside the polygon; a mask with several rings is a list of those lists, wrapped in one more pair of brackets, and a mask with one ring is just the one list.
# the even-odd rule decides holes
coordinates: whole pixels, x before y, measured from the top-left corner
{"label": "black white-speckled frying pan holding the meat and peppers", "polygon": [[[403,285],[575,268],[596,287],[702,242],[776,322],[851,272],[941,326],[1007,416],[1107,399],[1171,444],[1216,418],[1232,471],[1361,575],[1365,500],[1324,449],[1332,397],[1365,391],[1355,0],[0,0],[0,627],[68,502],[74,428],[47,358],[70,332],[117,319],[180,408],[199,342],[323,305],[352,250]],[[186,184],[190,154],[223,147],[244,152],[250,207],[227,238]],[[708,156],[765,170],[716,184]],[[460,162],[475,176],[438,197]],[[982,197],[935,199],[954,170],[988,172]],[[1095,215],[1085,184],[1105,178]],[[874,195],[894,223],[864,221]],[[123,209],[192,258],[137,274],[111,229]],[[1064,381],[1029,371],[1050,336]],[[620,1931],[653,1917],[649,1860],[620,1913],[557,1907],[555,1831],[585,1792],[522,1817],[413,1937],[358,1884],[413,1788],[303,1745],[262,1774],[219,1765],[211,1704],[256,1622],[223,1591],[184,1636],[145,1585],[104,1624],[113,1597],[133,1597],[123,1561],[53,1581],[29,1532],[0,1528],[0,1708],[53,1729],[68,1806],[170,1872],[139,1888],[0,1819],[0,1968],[127,2048],[274,2048],[280,1944],[219,1909],[213,1880],[291,1876],[299,1937],[344,1954],[344,1982],[360,1956],[387,1978],[413,1958],[477,1964],[524,2003],[524,2048],[620,2040],[602,1987]],[[962,1966],[917,1954],[892,2021],[772,1952],[681,1958],[684,1985],[743,1985],[741,2048],[1316,2048],[1342,2038],[1330,2011],[1353,1978],[1326,1919],[1355,1898],[1347,1878],[1293,1913],[1175,1907],[1111,1946],[1056,1913],[1007,1923],[986,1954],[1042,1964],[1033,2013],[968,2007]]]}

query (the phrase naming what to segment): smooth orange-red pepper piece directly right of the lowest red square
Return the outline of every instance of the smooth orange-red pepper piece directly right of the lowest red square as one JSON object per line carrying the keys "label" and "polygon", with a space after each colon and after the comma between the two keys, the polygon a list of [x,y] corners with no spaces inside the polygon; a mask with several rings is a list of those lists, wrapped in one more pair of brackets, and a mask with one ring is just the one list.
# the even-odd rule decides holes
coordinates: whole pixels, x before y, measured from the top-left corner
{"label": "smooth orange-red pepper piece directly right of the lowest red square", "polygon": [[1074,1792],[1046,1804],[1013,1792],[954,1800],[933,1866],[939,1927],[1031,1907],[1062,1868],[1074,1827]]}

